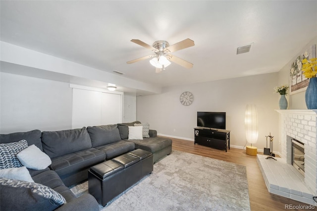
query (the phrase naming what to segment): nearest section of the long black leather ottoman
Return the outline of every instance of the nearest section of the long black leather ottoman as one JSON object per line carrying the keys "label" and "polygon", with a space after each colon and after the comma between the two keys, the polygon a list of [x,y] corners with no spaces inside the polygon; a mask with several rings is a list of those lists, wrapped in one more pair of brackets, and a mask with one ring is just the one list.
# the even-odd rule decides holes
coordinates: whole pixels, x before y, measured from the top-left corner
{"label": "nearest section of the long black leather ottoman", "polygon": [[124,166],[113,160],[107,160],[92,166],[88,170],[88,191],[99,204],[106,204],[125,191]]}

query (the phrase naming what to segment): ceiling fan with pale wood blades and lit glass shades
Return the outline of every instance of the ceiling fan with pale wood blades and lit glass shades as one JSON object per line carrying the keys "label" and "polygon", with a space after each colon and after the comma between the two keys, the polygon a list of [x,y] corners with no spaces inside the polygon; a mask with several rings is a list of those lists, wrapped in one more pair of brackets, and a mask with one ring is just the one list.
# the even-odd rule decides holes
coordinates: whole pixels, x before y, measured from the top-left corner
{"label": "ceiling fan with pale wood blades and lit glass shades", "polygon": [[152,46],[149,44],[144,43],[141,40],[131,40],[131,42],[138,44],[144,48],[147,48],[151,51],[153,51],[154,55],[146,55],[141,58],[137,58],[131,61],[127,61],[128,64],[132,64],[137,61],[141,61],[144,59],[152,58],[150,60],[150,63],[156,67],[156,72],[159,73],[160,71],[164,70],[165,67],[171,64],[170,61],[175,62],[176,64],[179,64],[186,68],[192,68],[193,64],[185,61],[184,59],[181,59],[175,55],[169,54],[173,53],[182,49],[186,49],[192,46],[195,46],[194,41],[191,39],[185,39],[181,42],[178,42],[172,46],[169,46],[167,41],[159,40],[155,41]]}

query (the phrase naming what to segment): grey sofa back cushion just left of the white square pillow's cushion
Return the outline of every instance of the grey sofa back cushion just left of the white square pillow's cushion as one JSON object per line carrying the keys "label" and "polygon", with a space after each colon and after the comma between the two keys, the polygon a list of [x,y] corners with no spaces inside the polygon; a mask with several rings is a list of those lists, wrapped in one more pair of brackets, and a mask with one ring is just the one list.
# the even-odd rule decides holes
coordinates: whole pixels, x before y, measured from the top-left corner
{"label": "grey sofa back cushion just left of the white square pillow's cushion", "polygon": [[116,124],[87,127],[87,131],[93,147],[121,140],[119,129]]}

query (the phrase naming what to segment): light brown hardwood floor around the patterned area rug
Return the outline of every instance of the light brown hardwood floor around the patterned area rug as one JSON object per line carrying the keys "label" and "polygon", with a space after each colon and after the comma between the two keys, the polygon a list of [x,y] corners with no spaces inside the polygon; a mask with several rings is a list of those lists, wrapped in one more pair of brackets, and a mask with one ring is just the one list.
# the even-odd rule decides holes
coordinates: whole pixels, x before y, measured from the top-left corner
{"label": "light brown hardwood floor around the patterned area rug", "polygon": [[[255,156],[246,155],[244,150],[231,148],[225,151],[194,144],[193,141],[174,139],[173,150],[196,154],[227,162],[233,162],[247,167],[249,198],[251,211],[285,211],[285,205],[307,206],[305,203],[271,194],[267,191],[264,179]],[[301,210],[294,210],[301,211]]]}

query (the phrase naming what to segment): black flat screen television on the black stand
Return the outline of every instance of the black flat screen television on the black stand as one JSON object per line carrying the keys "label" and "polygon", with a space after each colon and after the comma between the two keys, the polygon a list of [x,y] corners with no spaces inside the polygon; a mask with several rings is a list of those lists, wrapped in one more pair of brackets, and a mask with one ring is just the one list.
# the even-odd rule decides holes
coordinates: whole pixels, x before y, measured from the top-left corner
{"label": "black flat screen television on the black stand", "polygon": [[226,129],[226,112],[197,112],[197,127]]}

